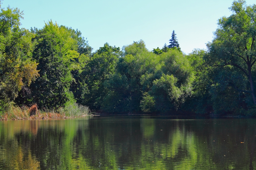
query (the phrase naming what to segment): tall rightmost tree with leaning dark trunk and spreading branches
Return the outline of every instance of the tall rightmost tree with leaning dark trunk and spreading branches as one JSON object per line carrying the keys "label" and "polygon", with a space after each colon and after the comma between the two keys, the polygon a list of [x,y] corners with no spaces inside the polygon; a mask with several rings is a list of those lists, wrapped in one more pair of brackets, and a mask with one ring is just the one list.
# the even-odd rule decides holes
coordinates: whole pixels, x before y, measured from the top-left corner
{"label": "tall rightmost tree with leaning dark trunk and spreading branches", "polygon": [[237,0],[229,9],[233,14],[219,19],[204,59],[221,70],[217,80],[220,85],[250,94],[256,105],[256,5],[247,6],[244,0]]}

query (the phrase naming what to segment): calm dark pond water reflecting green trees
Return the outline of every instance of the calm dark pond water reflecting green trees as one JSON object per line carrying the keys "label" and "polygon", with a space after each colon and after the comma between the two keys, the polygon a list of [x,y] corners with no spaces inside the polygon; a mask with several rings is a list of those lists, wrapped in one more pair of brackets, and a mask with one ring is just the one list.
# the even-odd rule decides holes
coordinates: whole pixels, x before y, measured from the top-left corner
{"label": "calm dark pond water reflecting green trees", "polygon": [[0,169],[256,169],[256,119],[0,122]]}

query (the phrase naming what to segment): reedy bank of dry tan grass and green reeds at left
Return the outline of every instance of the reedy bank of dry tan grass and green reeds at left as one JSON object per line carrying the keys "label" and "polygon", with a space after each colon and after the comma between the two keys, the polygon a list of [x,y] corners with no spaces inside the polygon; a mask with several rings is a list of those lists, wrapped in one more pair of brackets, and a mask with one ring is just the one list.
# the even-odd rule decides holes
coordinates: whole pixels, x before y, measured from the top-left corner
{"label": "reedy bank of dry tan grass and green reeds at left", "polygon": [[74,104],[58,109],[37,109],[37,105],[31,107],[12,106],[0,120],[30,120],[30,119],[67,119],[92,115],[89,107]]}

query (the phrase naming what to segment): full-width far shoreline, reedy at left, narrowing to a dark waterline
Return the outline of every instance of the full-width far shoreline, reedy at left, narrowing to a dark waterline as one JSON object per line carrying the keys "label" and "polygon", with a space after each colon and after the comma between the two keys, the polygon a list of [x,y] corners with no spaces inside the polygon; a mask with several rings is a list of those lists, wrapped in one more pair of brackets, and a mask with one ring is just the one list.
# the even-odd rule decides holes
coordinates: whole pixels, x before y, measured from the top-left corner
{"label": "full-width far shoreline, reedy at left, narrowing to a dark waterline", "polygon": [[[31,109],[33,108],[33,109]],[[196,115],[196,114],[161,114],[161,113],[106,113],[106,112],[80,112],[80,113],[70,113],[64,110],[58,111],[48,111],[48,110],[38,110],[36,107],[12,107],[9,111],[0,115],[0,121],[7,120],[47,120],[47,119],[70,119],[79,118],[85,116],[167,116],[176,118],[191,118],[191,119],[228,119],[228,118],[255,118],[252,116],[245,115]]]}

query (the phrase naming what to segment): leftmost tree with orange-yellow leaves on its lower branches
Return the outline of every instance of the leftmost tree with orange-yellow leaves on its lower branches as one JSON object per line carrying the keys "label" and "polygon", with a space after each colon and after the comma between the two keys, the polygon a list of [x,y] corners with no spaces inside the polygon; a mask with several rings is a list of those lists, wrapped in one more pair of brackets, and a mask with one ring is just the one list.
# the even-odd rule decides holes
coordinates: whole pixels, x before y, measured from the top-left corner
{"label": "leftmost tree with orange-yellow leaves on its lower branches", "polygon": [[22,11],[1,8],[0,1],[0,113],[7,109],[21,88],[39,76],[31,57],[33,34],[20,28]]}

